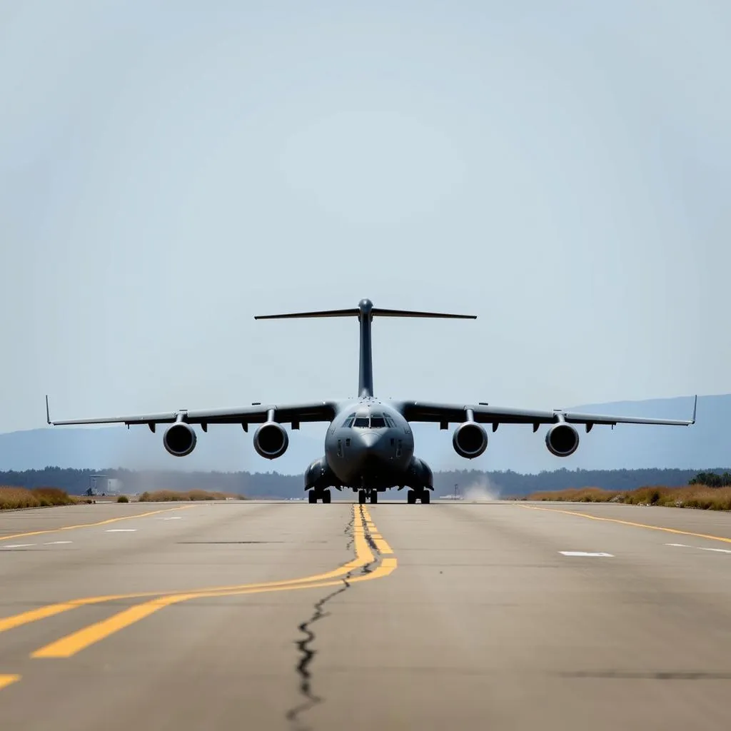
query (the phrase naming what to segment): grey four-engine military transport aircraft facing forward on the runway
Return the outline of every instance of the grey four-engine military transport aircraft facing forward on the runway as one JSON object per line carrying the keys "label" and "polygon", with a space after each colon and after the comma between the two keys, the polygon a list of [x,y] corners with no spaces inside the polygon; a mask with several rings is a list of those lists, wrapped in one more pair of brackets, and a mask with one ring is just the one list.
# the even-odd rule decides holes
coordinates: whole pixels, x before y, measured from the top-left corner
{"label": "grey four-engine military transport aircraft facing forward on the runway", "polygon": [[[189,411],[181,409],[162,414],[51,421],[46,396],[46,420],[53,425],[68,424],[147,424],[155,431],[157,424],[171,424],[162,437],[171,455],[189,455],[197,442],[192,424],[208,431],[209,424],[238,424],[249,431],[249,424],[260,424],[254,433],[254,449],[264,458],[281,457],[289,446],[289,436],[282,424],[298,429],[302,422],[329,422],[325,436],[325,455],[315,460],[305,472],[305,487],[309,501],[330,502],[330,488],[338,491],[352,489],[358,501],[378,501],[378,493],[389,488],[409,488],[409,503],[429,502],[433,491],[431,469],[414,455],[414,436],[410,422],[435,422],[447,429],[457,423],[452,434],[455,452],[463,458],[482,455],[488,446],[488,434],[483,424],[496,431],[500,424],[550,424],[545,443],[557,457],[572,455],[579,445],[579,435],[572,424],[586,425],[591,431],[595,424],[669,424],[688,426],[695,423],[696,409],[690,421],[643,419],[636,417],[575,414],[563,410],[526,411],[478,404],[433,404],[428,401],[390,401],[376,398],[373,387],[373,358],[371,322],[374,317],[450,317],[477,319],[474,315],[414,312],[374,307],[371,300],[361,300],[357,308],[260,315],[254,319],[284,319],[290,317],[357,317],[360,322],[360,375],[357,398],[344,401],[319,401],[311,404],[260,404],[239,409]],[[696,397],[697,404],[697,397]]]}

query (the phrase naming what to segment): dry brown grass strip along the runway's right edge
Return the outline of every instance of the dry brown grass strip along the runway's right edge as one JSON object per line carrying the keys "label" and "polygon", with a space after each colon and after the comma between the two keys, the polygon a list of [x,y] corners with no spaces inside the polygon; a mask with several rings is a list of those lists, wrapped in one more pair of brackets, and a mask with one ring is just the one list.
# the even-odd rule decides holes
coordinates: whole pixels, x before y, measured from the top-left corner
{"label": "dry brown grass strip along the runway's right edge", "polygon": [[731,488],[707,488],[705,485],[689,485],[684,488],[651,486],[624,492],[602,490],[601,488],[582,488],[579,490],[533,493],[521,499],[564,502],[619,502],[630,505],[731,510]]}

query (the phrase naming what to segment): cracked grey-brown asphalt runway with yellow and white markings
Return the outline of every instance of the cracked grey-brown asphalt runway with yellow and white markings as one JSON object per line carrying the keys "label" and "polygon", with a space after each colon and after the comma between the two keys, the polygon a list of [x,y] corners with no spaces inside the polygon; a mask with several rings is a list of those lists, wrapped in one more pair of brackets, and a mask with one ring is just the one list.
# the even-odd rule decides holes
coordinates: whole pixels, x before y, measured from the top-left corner
{"label": "cracked grey-brown asphalt runway with yellow and white markings", "polygon": [[2,731],[731,724],[723,513],[18,511],[0,515],[0,587]]}

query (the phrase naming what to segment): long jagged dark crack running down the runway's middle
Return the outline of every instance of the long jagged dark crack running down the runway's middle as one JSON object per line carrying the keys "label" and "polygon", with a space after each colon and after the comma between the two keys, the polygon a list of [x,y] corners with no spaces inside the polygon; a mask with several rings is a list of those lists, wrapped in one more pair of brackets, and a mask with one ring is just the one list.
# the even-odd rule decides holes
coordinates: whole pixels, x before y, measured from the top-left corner
{"label": "long jagged dark crack running down the runway's middle", "polygon": [[[377,561],[376,556],[379,552],[376,549],[371,535],[368,533],[368,526],[366,524],[365,516],[363,515],[363,507],[360,507],[360,520],[361,524],[363,525],[363,531],[366,537],[366,541],[368,541],[368,545],[371,546],[371,550],[374,554],[373,561],[368,561],[367,564],[364,564],[362,567],[360,567],[360,573],[365,575],[373,571],[372,567],[373,564],[375,564]],[[349,538],[347,542],[348,550],[351,550],[352,545],[355,542],[354,526],[355,515],[350,518],[348,524],[345,527],[345,530],[343,531],[344,534],[346,534],[346,536]],[[324,619],[325,617],[330,616],[329,612],[323,611],[323,607],[325,607],[330,599],[334,599],[336,596],[338,596],[338,594],[343,594],[344,591],[347,591],[352,586],[349,583],[349,578],[352,577],[352,573],[353,572],[351,569],[343,577],[343,586],[337,588],[335,591],[330,592],[330,594],[327,594],[327,596],[323,596],[322,599],[319,599],[317,602],[315,602],[313,605],[314,611],[310,618],[308,618],[306,621],[303,621],[303,623],[298,626],[299,631],[303,635],[305,635],[305,637],[295,643],[297,645],[298,651],[300,652],[300,659],[295,666],[295,672],[299,676],[299,692],[300,695],[303,696],[304,700],[299,705],[295,705],[294,708],[290,708],[289,711],[287,711],[286,718],[287,721],[292,724],[293,731],[311,731],[311,727],[303,721],[301,716],[303,715],[303,713],[310,711],[311,708],[314,708],[314,706],[318,705],[319,703],[325,702],[325,699],[319,695],[316,695],[312,689],[313,673],[312,670],[310,670],[310,665],[314,660],[314,656],[317,655],[318,651],[317,649],[314,649],[312,647],[314,641],[317,639],[317,635],[315,635],[315,633],[312,631],[311,625],[313,625],[320,619]]]}

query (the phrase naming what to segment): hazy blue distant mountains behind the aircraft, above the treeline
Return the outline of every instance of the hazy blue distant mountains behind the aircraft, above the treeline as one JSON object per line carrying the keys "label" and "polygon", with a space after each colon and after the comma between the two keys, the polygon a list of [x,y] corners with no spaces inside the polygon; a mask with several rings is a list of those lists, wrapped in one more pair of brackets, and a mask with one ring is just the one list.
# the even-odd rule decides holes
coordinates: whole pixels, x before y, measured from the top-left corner
{"label": "hazy blue distant mountains behind the aircraft, above the treeline", "polygon": [[[577,411],[626,416],[686,419],[692,397],[586,404]],[[452,449],[452,431],[433,424],[414,425],[417,455],[434,471],[452,469],[512,470],[537,473],[556,469],[705,469],[731,463],[731,394],[698,399],[697,423],[689,428],[618,425],[580,428],[580,445],[571,457],[557,458],[545,447],[546,427],[533,433],[530,426],[502,425],[488,431],[488,449],[482,457],[466,461]],[[211,426],[198,431],[194,452],[174,458],[162,446],[162,429],[146,427],[47,427],[0,434],[0,470],[69,468],[176,469],[181,471],[276,471],[301,475],[308,463],[322,456],[325,425],[303,425],[290,433],[289,450],[275,461],[260,458],[249,433],[235,426]]]}

